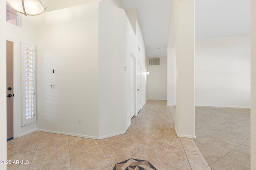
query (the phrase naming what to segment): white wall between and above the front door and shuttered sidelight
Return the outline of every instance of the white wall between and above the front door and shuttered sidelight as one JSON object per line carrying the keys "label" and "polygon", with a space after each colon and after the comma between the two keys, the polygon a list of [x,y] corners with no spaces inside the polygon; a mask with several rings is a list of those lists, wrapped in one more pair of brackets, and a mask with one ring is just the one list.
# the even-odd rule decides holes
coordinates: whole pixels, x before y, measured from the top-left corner
{"label": "white wall between and above the front door and shuttered sidelight", "polygon": [[[14,138],[36,130],[36,123],[21,127],[21,42],[36,45],[36,16],[26,17],[20,14],[21,27],[6,23],[6,39],[14,42]],[[37,57],[37,56],[36,56]]]}

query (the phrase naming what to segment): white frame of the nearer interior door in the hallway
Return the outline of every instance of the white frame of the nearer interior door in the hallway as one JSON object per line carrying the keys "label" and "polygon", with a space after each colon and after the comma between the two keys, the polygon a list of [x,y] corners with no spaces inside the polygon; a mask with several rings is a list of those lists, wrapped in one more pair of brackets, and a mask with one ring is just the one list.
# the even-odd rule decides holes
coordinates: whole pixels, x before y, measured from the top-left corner
{"label": "white frame of the nearer interior door in the hallway", "polygon": [[[137,116],[136,114],[136,111],[137,111],[137,96],[136,96],[136,89],[137,89],[137,76],[136,76],[136,58],[134,57],[134,55],[130,52],[130,57],[129,57],[129,60],[130,58],[133,58],[133,114],[134,116]],[[130,61],[130,64],[131,64],[131,61]],[[130,67],[131,68],[131,67]],[[131,73],[131,72],[130,72]],[[130,77],[130,81],[131,82],[131,77]],[[129,84],[130,86],[130,91],[131,91],[131,83]],[[130,108],[131,108],[131,95],[130,96]],[[130,109],[129,109],[130,110]],[[130,115],[131,115],[131,110],[130,110]]]}

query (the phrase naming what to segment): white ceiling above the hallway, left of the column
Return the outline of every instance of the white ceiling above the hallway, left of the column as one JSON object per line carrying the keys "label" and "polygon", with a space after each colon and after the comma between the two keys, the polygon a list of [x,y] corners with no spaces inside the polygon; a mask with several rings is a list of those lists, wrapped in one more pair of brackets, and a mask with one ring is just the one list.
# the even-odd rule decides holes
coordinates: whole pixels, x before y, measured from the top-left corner
{"label": "white ceiling above the hallway, left of the column", "polygon": [[166,56],[171,0],[121,1],[124,10],[137,9],[148,57]]}

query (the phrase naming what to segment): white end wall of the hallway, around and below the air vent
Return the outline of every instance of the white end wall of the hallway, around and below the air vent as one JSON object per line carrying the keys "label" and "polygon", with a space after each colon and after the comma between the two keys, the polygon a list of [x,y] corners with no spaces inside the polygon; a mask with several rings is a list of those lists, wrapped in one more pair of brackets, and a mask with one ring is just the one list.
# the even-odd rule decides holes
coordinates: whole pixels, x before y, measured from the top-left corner
{"label": "white end wall of the hallway, around and below the air vent", "polygon": [[148,99],[167,99],[167,57],[160,57],[160,65],[148,66]]}

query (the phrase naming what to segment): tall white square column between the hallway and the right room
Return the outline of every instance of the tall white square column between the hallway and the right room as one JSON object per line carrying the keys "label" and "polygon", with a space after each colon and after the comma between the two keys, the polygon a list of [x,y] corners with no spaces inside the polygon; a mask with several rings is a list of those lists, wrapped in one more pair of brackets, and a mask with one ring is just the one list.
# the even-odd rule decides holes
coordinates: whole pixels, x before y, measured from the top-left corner
{"label": "tall white square column between the hallway and the right room", "polygon": [[176,4],[176,133],[195,138],[194,0]]}

